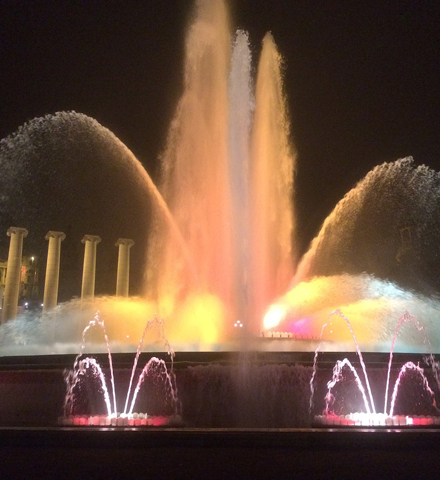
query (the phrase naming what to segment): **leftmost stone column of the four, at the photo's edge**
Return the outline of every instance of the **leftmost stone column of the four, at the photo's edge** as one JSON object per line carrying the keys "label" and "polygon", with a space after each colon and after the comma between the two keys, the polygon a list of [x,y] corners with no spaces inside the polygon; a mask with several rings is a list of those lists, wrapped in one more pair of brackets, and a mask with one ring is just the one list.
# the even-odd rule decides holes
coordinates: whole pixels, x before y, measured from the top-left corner
{"label": "leftmost stone column of the four, at the photo's edge", "polygon": [[11,227],[7,235],[11,237],[9,244],[8,270],[5,282],[2,323],[17,316],[18,295],[20,292],[20,273],[23,255],[23,238],[27,237],[25,228]]}

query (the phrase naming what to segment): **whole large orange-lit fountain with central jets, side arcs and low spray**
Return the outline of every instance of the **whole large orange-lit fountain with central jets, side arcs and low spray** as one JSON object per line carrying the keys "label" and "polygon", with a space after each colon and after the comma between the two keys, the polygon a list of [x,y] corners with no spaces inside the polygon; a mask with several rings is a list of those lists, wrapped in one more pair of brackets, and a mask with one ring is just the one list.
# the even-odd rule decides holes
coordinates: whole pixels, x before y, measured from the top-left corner
{"label": "whole large orange-lit fountain with central jets, side arcs and low spray", "polygon": [[[112,132],[83,114],[34,119],[1,141],[7,166],[0,176],[2,208],[16,224],[41,238],[50,229],[66,232],[63,248],[69,225],[77,235],[99,234],[103,248],[109,226],[118,225],[112,248],[118,237],[135,239],[132,253],[146,272],[146,282],[135,282],[137,297],[102,295],[110,291],[103,285],[94,299],[73,299],[38,319],[5,323],[3,355],[76,353],[97,309],[113,352],[136,351],[154,312],[166,319],[176,351],[313,352],[317,342],[321,350],[353,351],[354,331],[358,352],[388,352],[395,319],[404,311],[423,323],[430,351],[440,350],[440,305],[433,295],[440,288],[439,175],[414,167],[410,158],[377,167],[341,200],[298,261],[296,154],[281,63],[267,34],[254,80],[247,33],[231,35],[223,2],[197,2],[186,38],[184,91],[160,158],[158,187]],[[53,201],[69,189],[69,202]],[[336,309],[350,319],[351,332],[346,326],[322,331]],[[107,345],[90,342],[88,348],[106,352]],[[428,347],[404,332],[399,348],[420,353]],[[246,364],[238,373],[244,378],[252,368]],[[279,366],[267,370],[276,368],[286,373]],[[75,369],[100,377],[91,359],[78,357]],[[213,376],[219,373],[214,370]],[[269,377],[258,378],[270,383]],[[249,409],[245,384],[237,390]],[[106,418],[117,418],[116,401],[105,403]],[[124,413],[120,418],[128,419]]]}

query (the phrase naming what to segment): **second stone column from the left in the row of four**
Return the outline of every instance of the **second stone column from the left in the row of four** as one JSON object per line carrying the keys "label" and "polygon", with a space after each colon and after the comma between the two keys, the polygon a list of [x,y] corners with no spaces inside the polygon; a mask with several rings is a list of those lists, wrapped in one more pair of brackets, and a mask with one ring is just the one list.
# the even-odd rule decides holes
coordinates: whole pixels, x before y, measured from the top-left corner
{"label": "second stone column from the left in the row of four", "polygon": [[46,264],[46,280],[44,282],[43,312],[57,306],[58,283],[60,278],[60,255],[61,242],[66,238],[63,232],[47,232],[46,240],[49,240]]}

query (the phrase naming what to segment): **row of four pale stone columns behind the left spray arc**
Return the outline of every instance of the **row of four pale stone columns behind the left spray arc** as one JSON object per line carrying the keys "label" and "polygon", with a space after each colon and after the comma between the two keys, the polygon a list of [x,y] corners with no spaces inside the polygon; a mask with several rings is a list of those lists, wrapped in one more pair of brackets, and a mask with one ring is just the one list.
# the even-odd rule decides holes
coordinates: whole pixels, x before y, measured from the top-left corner
{"label": "row of four pale stone columns behind the left spray arc", "polygon": [[[3,299],[2,323],[17,316],[18,296],[20,291],[20,273],[23,256],[23,239],[27,237],[25,228],[11,227],[7,231],[11,237],[8,255],[8,269],[5,281]],[[60,277],[61,242],[66,238],[63,232],[49,231],[46,235],[49,241],[46,264],[46,280],[44,283],[43,312],[56,307],[58,302],[58,286]],[[85,245],[84,264],[81,286],[81,298],[90,299],[95,295],[96,248],[101,238],[97,235],[85,235],[81,242]],[[118,273],[116,280],[116,295],[128,296],[130,279],[130,248],[134,241],[119,238]]]}

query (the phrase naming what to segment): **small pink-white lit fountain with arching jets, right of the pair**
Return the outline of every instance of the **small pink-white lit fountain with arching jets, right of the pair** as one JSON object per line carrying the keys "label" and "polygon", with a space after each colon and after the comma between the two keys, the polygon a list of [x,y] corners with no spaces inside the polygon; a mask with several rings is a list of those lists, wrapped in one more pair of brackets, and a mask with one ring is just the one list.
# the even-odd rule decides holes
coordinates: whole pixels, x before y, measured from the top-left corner
{"label": "small pink-white lit fountain with arching jets, right of the pair", "polygon": [[[440,425],[440,410],[437,408],[436,404],[436,393],[431,389],[423,368],[420,367],[420,365],[415,365],[412,361],[407,361],[398,371],[397,379],[395,380],[389,401],[393,353],[401,327],[405,323],[408,323],[415,327],[419,332],[424,333],[423,326],[418,322],[416,317],[405,312],[398,319],[388,362],[384,407],[383,412],[380,412],[375,406],[367,367],[350,320],[340,310],[332,312],[327,323],[322,326],[320,339],[322,339],[326,328],[333,328],[333,315],[340,317],[343,320],[342,323],[345,323],[352,336],[364,381],[362,381],[356,368],[348,358],[337,360],[336,365],[333,368],[333,378],[327,383],[328,390],[325,395],[324,412],[322,415],[315,415],[315,422],[323,425],[338,426]],[[422,337],[424,342],[429,345],[429,339],[425,335]],[[320,347],[321,344],[315,351],[313,373],[310,380],[311,412],[314,405],[315,376],[317,372]],[[439,363],[435,361],[432,354],[426,356],[423,361],[432,370],[435,390],[439,393]],[[404,386],[406,388],[404,388]],[[404,401],[402,401],[402,398]],[[398,406],[397,401],[401,402],[402,405]],[[359,407],[363,408],[363,410],[361,411]],[[398,410],[400,410],[400,412]]]}

